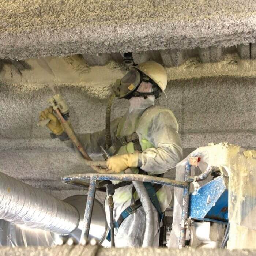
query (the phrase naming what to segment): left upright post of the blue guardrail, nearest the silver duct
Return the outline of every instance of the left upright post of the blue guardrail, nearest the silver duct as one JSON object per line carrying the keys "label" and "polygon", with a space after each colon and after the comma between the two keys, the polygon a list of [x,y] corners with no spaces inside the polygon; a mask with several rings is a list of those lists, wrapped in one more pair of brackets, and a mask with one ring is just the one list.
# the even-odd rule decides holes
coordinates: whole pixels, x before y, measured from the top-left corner
{"label": "left upright post of the blue guardrail, nearest the silver duct", "polygon": [[96,179],[91,178],[89,189],[88,189],[86,207],[85,207],[85,211],[84,211],[84,219],[83,219],[83,227],[82,227],[82,232],[81,232],[80,244],[84,241],[84,239],[87,240],[89,237],[89,230],[90,230],[90,225],[91,225],[91,215],[93,212],[95,191],[96,191]]}

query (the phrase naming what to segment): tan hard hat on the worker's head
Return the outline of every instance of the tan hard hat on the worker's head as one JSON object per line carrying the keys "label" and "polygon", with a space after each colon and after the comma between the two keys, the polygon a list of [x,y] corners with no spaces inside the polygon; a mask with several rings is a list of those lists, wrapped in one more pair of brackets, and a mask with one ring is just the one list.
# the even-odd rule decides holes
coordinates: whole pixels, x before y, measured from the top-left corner
{"label": "tan hard hat on the worker's head", "polygon": [[168,79],[166,71],[162,65],[155,61],[147,61],[140,63],[138,66],[133,66],[133,68],[138,69],[139,71],[147,75],[149,78],[151,78],[165,94],[164,90],[167,86]]}

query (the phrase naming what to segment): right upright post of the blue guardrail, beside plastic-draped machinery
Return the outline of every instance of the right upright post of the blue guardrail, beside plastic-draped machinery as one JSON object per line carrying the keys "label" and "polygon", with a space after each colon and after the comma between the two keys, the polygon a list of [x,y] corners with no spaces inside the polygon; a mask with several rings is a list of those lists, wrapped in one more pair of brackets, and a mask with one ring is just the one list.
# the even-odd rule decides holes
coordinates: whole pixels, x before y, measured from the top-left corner
{"label": "right upright post of the blue guardrail, beside plastic-draped machinery", "polygon": [[[184,180],[187,181],[188,176],[191,174],[191,165],[189,161],[186,163],[185,167],[185,177]],[[187,231],[187,219],[188,219],[188,207],[189,207],[189,183],[188,187],[183,190],[183,201],[182,201],[182,212],[181,212],[181,229],[180,238],[178,242],[178,247],[181,249],[185,246],[186,242],[186,231]]]}

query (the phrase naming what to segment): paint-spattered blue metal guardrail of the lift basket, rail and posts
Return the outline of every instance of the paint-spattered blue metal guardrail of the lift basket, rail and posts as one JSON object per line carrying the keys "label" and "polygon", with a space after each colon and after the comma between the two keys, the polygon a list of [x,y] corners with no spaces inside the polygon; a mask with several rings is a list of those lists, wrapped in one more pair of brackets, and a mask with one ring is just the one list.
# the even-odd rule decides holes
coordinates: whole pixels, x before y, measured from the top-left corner
{"label": "paint-spattered blue metal guardrail of the lift basket, rail and posts", "polygon": [[[195,158],[195,156],[193,156]],[[62,181],[66,184],[76,185],[78,184],[88,184],[88,195],[86,201],[86,208],[84,214],[84,222],[81,234],[81,240],[87,240],[89,236],[89,228],[91,223],[91,214],[93,210],[93,202],[95,197],[95,191],[97,187],[98,181],[140,181],[140,182],[150,182],[150,183],[157,183],[166,186],[172,186],[177,188],[183,188],[183,202],[182,202],[182,215],[181,215],[181,231],[180,231],[180,238],[179,238],[179,248],[185,246],[186,241],[186,230],[188,225],[188,208],[189,208],[189,185],[192,181],[201,181],[206,179],[209,174],[211,173],[212,167],[208,166],[206,171],[199,176],[191,177],[191,164],[190,161],[187,161],[185,165],[185,178],[184,181],[177,181],[171,180],[168,178],[160,178],[154,177],[149,175],[142,175],[142,174],[98,174],[98,173],[86,173],[86,174],[76,174],[76,175],[68,175],[62,178]]]}

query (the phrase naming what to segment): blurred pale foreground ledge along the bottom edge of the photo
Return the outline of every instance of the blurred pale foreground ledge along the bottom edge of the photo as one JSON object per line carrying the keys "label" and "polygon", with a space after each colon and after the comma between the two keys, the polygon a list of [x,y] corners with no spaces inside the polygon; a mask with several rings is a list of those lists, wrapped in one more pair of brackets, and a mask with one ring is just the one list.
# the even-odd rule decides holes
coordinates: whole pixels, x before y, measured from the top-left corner
{"label": "blurred pale foreground ledge along the bottom edge of the photo", "polygon": [[46,247],[2,247],[0,253],[3,256],[253,256],[255,251],[253,250],[234,250],[229,251],[226,249],[207,249],[207,248],[183,248],[183,249],[169,249],[169,248],[103,248],[101,246],[87,246],[84,245],[63,245],[63,246],[52,246],[51,248]]}

